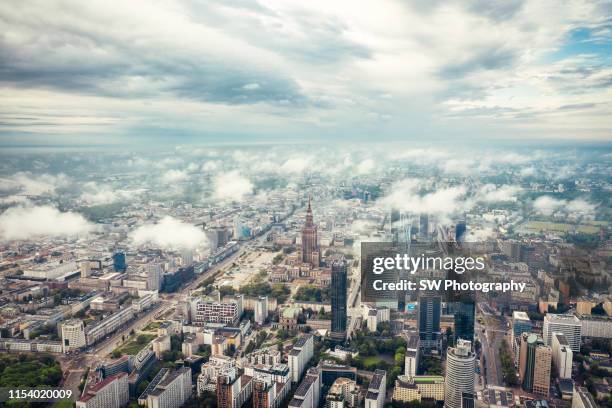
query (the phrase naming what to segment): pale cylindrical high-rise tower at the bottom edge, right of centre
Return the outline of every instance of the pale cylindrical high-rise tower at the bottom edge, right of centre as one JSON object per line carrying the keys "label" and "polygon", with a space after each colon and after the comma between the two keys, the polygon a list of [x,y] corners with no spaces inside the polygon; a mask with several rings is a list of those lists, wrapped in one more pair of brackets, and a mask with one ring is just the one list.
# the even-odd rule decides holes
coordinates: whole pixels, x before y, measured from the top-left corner
{"label": "pale cylindrical high-rise tower at the bottom edge, right of centre", "polygon": [[472,342],[459,340],[455,347],[446,351],[446,378],[444,384],[444,406],[461,408],[463,393],[474,392],[474,367],[476,357]]}

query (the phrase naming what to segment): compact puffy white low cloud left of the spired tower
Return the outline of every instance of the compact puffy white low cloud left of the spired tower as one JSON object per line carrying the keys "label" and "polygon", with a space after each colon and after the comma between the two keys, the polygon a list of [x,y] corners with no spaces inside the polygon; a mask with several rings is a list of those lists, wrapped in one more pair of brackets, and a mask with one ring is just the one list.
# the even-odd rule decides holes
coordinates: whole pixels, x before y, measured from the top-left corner
{"label": "compact puffy white low cloud left of the spired tower", "polygon": [[146,224],[129,234],[136,245],[153,245],[162,249],[193,249],[206,245],[206,234],[195,225],[166,216],[157,224]]}

